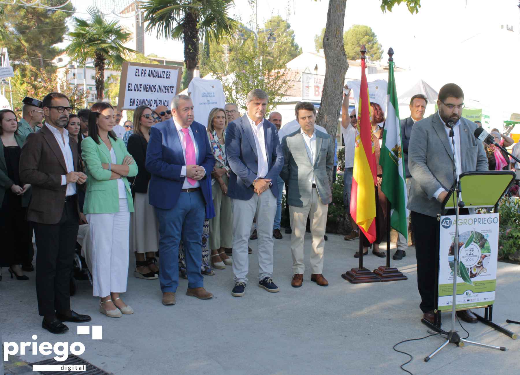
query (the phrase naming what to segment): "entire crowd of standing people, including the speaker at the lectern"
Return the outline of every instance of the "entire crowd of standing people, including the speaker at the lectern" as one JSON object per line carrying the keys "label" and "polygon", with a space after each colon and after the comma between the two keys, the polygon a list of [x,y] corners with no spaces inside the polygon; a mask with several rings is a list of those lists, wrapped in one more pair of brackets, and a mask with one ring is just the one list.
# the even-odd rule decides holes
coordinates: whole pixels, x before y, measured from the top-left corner
{"label": "entire crowd of standing people, including the speaker at the lectern", "polygon": [[[346,87],[341,120],[345,145],[342,172],[344,206],[352,225],[345,240],[353,240],[359,237],[349,215],[358,119],[355,110],[348,113],[348,95]],[[267,94],[254,89],[246,98],[244,114],[237,104],[228,103],[214,108],[207,124],[194,121],[193,103],[185,95],[175,96],[171,108],[138,106],[133,119],[123,125],[122,111],[112,105],[99,102],[74,114],[69,99],[58,92],[49,93],[42,101],[25,98],[20,120],[11,110],[0,111],[0,226],[6,245],[0,252],[0,266],[9,267],[11,277],[29,279],[23,272],[34,270],[34,231],[36,293],[43,328],[61,333],[68,329],[63,322],[91,319],[77,314],[70,305],[79,225],[88,226],[93,295],[99,297],[100,313],[108,317],[134,313],[122,299],[129,252],[135,256],[133,275],[159,279],[162,303],[172,305],[179,276],[188,279],[188,296],[209,299],[213,294],[205,290],[204,276],[215,275],[215,269],[226,266],[232,266],[234,274],[232,296],[244,296],[249,284],[248,255],[252,253],[249,241],[257,239],[257,285],[278,292],[272,279],[273,247],[274,238],[282,238],[284,189],[290,220],[285,233],[291,234],[293,259],[291,285],[303,285],[307,221],[312,237],[310,280],[328,285],[323,276],[325,229],[332,202],[328,173],[336,174],[337,141],[315,123],[312,103],[297,103],[295,119],[282,127],[280,113],[271,112],[265,118],[267,102]],[[431,136],[419,135],[419,129],[434,131],[440,124],[437,117],[442,123],[453,120],[471,136],[478,126],[461,117],[463,93],[457,85],[444,86],[437,104],[439,111],[423,118],[427,98],[415,95],[410,101],[410,117],[401,120],[408,207],[417,230],[418,274],[423,275],[419,277],[421,309],[432,321],[434,277],[425,277],[433,272],[434,241],[426,232],[435,224],[432,217],[451,186],[451,171],[444,170],[445,160],[444,164],[439,162],[439,170],[431,169],[428,160],[434,157],[432,150],[438,152],[438,145],[428,141]],[[388,235],[379,166],[385,118],[378,103],[370,105],[378,165],[372,253],[385,257],[379,248]],[[439,137],[443,138],[444,125],[439,126]],[[491,134],[504,146],[513,142],[498,130]],[[488,146],[485,151],[474,137],[465,139],[460,137],[461,146],[470,142],[479,147],[475,155],[464,155],[471,162],[457,160],[459,171],[483,170],[484,165],[485,169],[510,168],[509,158],[500,150]],[[439,160],[448,156],[439,156]],[[372,244],[363,238],[363,255],[367,255]],[[405,237],[399,235],[393,258],[405,257],[407,246]],[[354,255],[359,256],[359,252]],[[461,317],[474,320],[471,312],[461,312]]]}

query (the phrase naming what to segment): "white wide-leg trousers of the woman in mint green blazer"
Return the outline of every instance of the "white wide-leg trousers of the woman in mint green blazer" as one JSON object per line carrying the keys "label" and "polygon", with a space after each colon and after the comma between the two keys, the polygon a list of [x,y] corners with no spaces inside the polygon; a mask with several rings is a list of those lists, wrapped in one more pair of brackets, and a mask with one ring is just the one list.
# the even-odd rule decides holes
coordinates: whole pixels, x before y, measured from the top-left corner
{"label": "white wide-leg trousers of the woman in mint green blazer", "polygon": [[89,213],[92,242],[92,293],[107,297],[124,293],[128,279],[128,229],[130,213],[126,198],[119,199],[119,212]]}

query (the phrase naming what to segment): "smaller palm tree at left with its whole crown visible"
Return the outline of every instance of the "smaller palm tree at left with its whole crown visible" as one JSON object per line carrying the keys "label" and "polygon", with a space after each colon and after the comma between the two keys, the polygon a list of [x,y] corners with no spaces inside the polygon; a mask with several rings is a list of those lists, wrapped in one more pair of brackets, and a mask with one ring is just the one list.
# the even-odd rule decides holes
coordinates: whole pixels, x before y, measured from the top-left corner
{"label": "smaller palm tree at left with its whole crown visible", "polygon": [[72,17],[74,31],[67,34],[71,43],[65,50],[80,65],[85,65],[87,59],[94,59],[97,100],[102,101],[105,69],[121,69],[125,57],[135,52],[124,46],[132,40],[132,33],[118,21],[105,20],[96,7],[88,7],[87,12],[89,20]]}

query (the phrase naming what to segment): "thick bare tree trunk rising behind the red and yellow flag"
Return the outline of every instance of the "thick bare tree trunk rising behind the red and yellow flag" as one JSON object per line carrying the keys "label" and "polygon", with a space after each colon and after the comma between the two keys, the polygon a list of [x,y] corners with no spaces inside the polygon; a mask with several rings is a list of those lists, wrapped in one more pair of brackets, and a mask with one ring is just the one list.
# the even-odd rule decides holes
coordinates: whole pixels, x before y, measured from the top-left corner
{"label": "thick bare tree trunk rising behind the red and yellow flag", "polygon": [[[323,35],[325,81],[316,124],[326,128],[332,139],[336,138],[341,101],[343,100],[342,88],[345,84],[345,74],[348,69],[343,44],[346,3],[346,0],[329,0],[327,25]],[[329,182],[332,185],[332,172],[329,173]]]}

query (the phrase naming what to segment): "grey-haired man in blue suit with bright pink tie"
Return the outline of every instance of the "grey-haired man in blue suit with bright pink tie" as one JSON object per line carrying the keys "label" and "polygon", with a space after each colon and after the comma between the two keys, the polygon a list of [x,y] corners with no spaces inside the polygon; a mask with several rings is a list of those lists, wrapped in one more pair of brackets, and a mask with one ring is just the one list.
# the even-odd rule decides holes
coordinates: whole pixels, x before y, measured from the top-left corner
{"label": "grey-haired man in blue suit with bright pink tie", "polygon": [[206,128],[193,121],[193,103],[186,95],[172,100],[172,118],[150,128],[146,169],[151,173],[149,202],[159,219],[159,280],[164,305],[175,304],[179,285],[178,252],[182,239],[188,273],[187,296],[209,299],[203,288],[202,229],[215,213],[211,171],[215,158]]}

